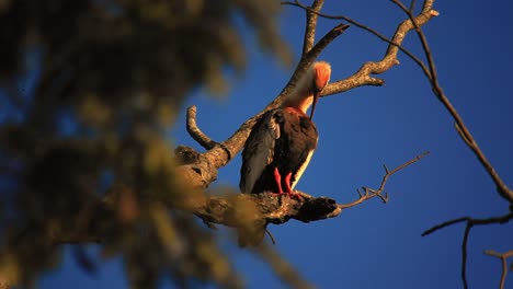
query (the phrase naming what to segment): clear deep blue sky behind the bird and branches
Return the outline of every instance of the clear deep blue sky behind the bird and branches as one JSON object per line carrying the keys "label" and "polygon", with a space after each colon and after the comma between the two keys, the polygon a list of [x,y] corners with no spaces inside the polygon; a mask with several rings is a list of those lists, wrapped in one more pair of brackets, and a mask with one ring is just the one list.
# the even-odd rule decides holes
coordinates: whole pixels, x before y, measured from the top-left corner
{"label": "clear deep blue sky behind the bird and branches", "polygon": [[[506,184],[513,186],[513,108],[510,71],[513,66],[513,2],[460,3],[437,1],[441,13],[424,31],[437,65],[441,84]],[[296,61],[303,44],[303,11],[284,8],[282,34]],[[389,1],[327,1],[326,13],[343,13],[386,35],[404,15]],[[320,20],[318,35],[337,21]],[[404,46],[421,55],[410,34]],[[319,59],[332,65],[332,80],[352,74],[368,60],[378,60],[386,44],[351,27]],[[215,140],[229,137],[248,117],[281,91],[292,68],[249,46],[248,69],[232,82],[230,93],[212,97],[196,92],[187,102],[198,109],[198,125]],[[453,126],[453,119],[432,94],[420,69],[406,56],[381,77],[381,88],[360,88],[321,99],[315,122],[319,146],[297,188],[339,203],[357,198],[356,188],[377,187],[381,164],[390,169],[429,150],[431,154],[394,175],[388,204],[369,200],[338,218],[315,223],[290,221],[271,226],[276,250],[318,288],[461,288],[458,224],[422,238],[438,222],[461,216],[503,215],[508,204]],[[184,107],[185,108],[185,107]],[[182,114],[169,137],[175,143],[200,147],[187,136]],[[237,187],[240,155],[219,171],[216,185]],[[500,262],[483,250],[513,250],[513,224],[475,228],[468,243],[470,288],[497,288]],[[226,234],[219,232],[221,238]],[[226,240],[225,240],[226,241]],[[225,242],[223,241],[223,242]],[[225,242],[226,243],[226,242]],[[249,288],[283,288],[252,253],[226,245]],[[101,265],[92,276],[65,254],[60,268],[42,278],[41,288],[124,288],[118,259]],[[91,252],[95,252],[91,247]],[[162,287],[169,287],[163,282]],[[506,281],[513,288],[513,277]]]}

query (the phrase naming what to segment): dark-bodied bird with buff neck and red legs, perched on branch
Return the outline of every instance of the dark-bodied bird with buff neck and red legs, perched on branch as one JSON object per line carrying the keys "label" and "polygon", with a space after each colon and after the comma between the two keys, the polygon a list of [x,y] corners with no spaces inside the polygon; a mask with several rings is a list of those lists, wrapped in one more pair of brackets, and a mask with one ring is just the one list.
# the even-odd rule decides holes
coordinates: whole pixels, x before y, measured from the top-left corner
{"label": "dark-bodied bird with buff neck and red legs, perched on branch", "polygon": [[328,62],[314,62],[283,104],[256,120],[242,151],[242,193],[272,192],[301,199],[294,187],[317,148],[319,135],[312,117],[330,76]]}

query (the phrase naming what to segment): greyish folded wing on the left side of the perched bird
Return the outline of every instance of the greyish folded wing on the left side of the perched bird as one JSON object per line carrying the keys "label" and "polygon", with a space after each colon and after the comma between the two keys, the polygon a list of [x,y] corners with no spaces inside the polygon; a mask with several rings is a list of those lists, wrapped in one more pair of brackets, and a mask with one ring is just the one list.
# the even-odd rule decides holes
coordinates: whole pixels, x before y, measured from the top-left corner
{"label": "greyish folded wing on the left side of the perched bird", "polygon": [[255,182],[274,158],[274,144],[280,138],[280,124],[276,111],[264,114],[253,126],[242,151],[239,188],[242,193],[253,193]]}

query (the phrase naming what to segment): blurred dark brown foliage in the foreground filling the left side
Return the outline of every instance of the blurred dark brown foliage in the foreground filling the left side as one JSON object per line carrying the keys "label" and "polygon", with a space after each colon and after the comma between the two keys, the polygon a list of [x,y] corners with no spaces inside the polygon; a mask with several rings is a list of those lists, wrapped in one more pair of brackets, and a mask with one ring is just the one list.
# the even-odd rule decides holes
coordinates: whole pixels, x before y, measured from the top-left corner
{"label": "blurred dark brown foliage in the foreground filling the left side", "polygon": [[[59,243],[87,241],[122,256],[134,288],[162,275],[182,287],[241,287],[210,232],[162,207],[202,196],[175,173],[162,131],[193,89],[226,92],[224,71],[246,67],[248,32],[290,60],[278,9],[272,0],[0,0],[0,278],[32,285],[59,264]],[[105,182],[115,186],[103,192]],[[94,270],[81,247],[75,256]]]}

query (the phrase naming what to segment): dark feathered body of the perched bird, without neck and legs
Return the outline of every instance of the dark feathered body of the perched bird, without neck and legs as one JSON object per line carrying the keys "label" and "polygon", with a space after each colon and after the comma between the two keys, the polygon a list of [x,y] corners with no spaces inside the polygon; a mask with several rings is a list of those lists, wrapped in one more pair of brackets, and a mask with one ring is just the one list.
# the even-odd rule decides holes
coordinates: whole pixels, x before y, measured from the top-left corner
{"label": "dark feathered body of the perched bird, without neck and legs", "polygon": [[[251,130],[242,152],[241,175],[253,174],[254,180],[241,177],[239,184],[241,192],[283,193],[287,187],[285,183],[287,173],[292,173],[289,186],[294,188],[317,147],[317,139],[316,125],[300,111],[286,107],[265,113]],[[266,154],[267,158],[252,160],[255,154]],[[262,161],[266,162],[263,166]],[[275,169],[282,175],[282,189],[275,181]],[[252,172],[253,170],[261,172]]]}

